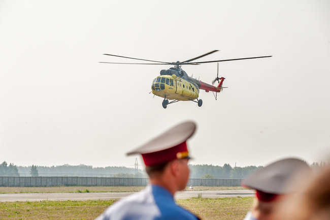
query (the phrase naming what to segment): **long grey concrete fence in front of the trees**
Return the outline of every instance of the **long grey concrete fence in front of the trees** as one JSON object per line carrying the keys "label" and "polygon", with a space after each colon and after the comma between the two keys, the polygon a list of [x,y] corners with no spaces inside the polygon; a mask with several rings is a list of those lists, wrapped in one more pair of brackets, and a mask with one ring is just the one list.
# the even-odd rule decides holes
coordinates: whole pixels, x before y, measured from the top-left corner
{"label": "long grey concrete fence in front of the trees", "polygon": [[[80,176],[0,176],[0,186],[146,186],[148,178]],[[189,179],[192,186],[240,186],[241,179]]]}

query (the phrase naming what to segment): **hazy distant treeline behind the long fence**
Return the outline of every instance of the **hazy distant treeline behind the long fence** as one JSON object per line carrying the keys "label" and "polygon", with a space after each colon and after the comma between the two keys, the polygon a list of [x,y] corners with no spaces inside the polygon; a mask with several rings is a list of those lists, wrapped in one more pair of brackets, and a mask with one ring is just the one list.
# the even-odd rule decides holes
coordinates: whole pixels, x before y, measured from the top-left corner
{"label": "hazy distant treeline behind the long fence", "polygon": [[[328,163],[313,163],[311,167],[321,167]],[[189,165],[190,178],[244,179],[262,166],[232,167],[214,165]],[[7,162],[0,164],[0,176],[90,176],[90,177],[147,177],[144,170],[127,167],[92,167],[87,165],[61,166],[16,166]]]}

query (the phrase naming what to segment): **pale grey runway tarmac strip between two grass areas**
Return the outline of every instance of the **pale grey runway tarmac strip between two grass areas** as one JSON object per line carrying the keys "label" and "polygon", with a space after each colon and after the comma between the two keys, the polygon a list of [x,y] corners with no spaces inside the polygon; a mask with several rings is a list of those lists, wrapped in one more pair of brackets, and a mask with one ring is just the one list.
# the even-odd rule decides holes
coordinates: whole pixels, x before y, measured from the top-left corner
{"label": "pale grey runway tarmac strip between two grass areas", "polygon": [[[15,201],[60,201],[60,200],[108,200],[121,199],[133,192],[127,193],[19,193],[19,194],[0,194],[0,202]],[[175,199],[188,199],[191,197],[203,198],[225,198],[225,197],[251,197],[254,196],[253,190],[218,190],[218,191],[182,191],[175,195]]]}

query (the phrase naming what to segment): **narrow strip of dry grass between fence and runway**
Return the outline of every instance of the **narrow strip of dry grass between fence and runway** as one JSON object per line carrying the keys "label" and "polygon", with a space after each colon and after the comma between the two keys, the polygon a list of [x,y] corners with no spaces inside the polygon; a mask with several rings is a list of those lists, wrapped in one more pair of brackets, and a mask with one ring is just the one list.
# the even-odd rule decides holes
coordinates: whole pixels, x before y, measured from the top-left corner
{"label": "narrow strip of dry grass between fence and runway", "polygon": [[[5,193],[104,193],[139,192],[145,186],[54,186],[54,187],[0,187]],[[240,186],[194,186],[193,190],[239,190]],[[188,187],[186,188],[188,190]],[[189,190],[191,191],[191,190]]]}

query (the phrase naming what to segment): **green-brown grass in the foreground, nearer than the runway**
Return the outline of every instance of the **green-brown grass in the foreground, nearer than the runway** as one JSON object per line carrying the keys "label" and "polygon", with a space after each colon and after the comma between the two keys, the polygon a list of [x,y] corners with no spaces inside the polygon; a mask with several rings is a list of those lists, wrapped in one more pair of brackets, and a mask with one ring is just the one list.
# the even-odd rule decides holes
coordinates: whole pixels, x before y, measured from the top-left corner
{"label": "green-brown grass in the foreground, nearer than the runway", "polygon": [[[0,219],[94,219],[113,202],[114,200],[2,202]],[[179,205],[208,220],[241,220],[252,202],[252,197],[177,200]]]}

